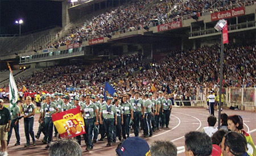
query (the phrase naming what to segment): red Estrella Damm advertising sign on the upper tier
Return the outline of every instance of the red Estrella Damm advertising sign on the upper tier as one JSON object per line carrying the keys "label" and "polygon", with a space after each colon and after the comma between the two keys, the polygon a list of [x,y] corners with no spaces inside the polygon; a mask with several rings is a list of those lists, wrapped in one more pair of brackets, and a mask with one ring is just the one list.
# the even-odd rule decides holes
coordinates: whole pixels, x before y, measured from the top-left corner
{"label": "red Estrella Damm advertising sign on the upper tier", "polygon": [[212,21],[233,18],[233,17],[241,16],[241,15],[245,15],[245,7],[238,7],[236,9],[215,12],[215,13],[210,14]]}

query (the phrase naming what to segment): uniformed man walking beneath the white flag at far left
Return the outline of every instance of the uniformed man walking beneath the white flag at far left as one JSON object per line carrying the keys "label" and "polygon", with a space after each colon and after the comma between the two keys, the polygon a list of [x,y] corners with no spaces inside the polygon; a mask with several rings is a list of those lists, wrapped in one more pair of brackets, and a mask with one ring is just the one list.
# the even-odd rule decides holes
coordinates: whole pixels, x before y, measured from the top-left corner
{"label": "uniformed man walking beneath the white flag at far left", "polygon": [[8,107],[11,115],[11,126],[10,131],[8,132],[8,139],[7,139],[7,145],[9,145],[11,133],[13,132],[13,128],[15,130],[15,136],[16,136],[16,144],[14,146],[20,145],[20,137],[19,137],[19,116],[20,116],[20,109],[17,104],[15,104],[15,107]]}

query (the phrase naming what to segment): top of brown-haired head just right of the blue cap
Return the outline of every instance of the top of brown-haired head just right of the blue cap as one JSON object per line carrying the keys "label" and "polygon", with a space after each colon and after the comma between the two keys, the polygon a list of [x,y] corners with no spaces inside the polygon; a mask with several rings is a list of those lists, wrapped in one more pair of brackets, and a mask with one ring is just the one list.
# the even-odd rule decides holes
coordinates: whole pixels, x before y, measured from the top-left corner
{"label": "top of brown-haired head just right of the blue cap", "polygon": [[151,156],[176,156],[177,147],[170,141],[155,141],[150,152]]}

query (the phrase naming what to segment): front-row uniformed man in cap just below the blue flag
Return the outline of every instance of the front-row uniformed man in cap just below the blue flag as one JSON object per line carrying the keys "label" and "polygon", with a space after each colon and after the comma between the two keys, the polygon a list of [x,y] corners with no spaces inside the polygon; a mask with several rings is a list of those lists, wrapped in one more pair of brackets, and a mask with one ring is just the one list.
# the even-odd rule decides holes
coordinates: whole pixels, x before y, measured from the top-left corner
{"label": "front-row uniformed man in cap just below the blue flag", "polygon": [[114,125],[117,125],[117,111],[111,104],[111,98],[109,96],[106,98],[106,104],[101,107],[100,124],[104,124],[104,127],[106,128],[105,130],[108,136],[108,144],[106,146],[111,146],[113,141]]}

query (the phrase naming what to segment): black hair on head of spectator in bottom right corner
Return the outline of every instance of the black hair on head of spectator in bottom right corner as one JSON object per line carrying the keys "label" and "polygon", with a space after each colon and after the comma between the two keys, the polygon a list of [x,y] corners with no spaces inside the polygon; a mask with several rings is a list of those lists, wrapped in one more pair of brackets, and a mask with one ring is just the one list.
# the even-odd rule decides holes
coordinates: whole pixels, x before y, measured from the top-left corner
{"label": "black hair on head of spectator in bottom right corner", "polygon": [[247,141],[245,136],[237,132],[229,132],[225,136],[224,150],[229,147],[229,151],[233,155],[240,155],[247,151]]}

